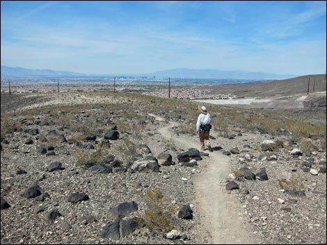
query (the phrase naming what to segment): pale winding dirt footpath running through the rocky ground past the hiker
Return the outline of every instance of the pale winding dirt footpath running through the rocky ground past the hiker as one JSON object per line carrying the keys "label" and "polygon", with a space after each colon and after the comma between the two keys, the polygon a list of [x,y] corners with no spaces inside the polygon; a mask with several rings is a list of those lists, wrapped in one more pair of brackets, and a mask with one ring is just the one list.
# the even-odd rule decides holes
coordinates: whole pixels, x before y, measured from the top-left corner
{"label": "pale winding dirt footpath running through the rocky ground past the hiker", "polygon": [[[159,121],[165,121],[161,117]],[[199,148],[200,142],[190,137],[176,136],[170,130],[175,126],[168,123],[158,132],[167,140],[174,140],[183,149]],[[202,169],[194,182],[196,206],[200,212],[201,223],[212,237],[210,244],[257,244],[255,235],[246,228],[246,217],[241,204],[226,194],[224,178],[230,174],[229,158],[221,153],[209,153],[207,166]]]}

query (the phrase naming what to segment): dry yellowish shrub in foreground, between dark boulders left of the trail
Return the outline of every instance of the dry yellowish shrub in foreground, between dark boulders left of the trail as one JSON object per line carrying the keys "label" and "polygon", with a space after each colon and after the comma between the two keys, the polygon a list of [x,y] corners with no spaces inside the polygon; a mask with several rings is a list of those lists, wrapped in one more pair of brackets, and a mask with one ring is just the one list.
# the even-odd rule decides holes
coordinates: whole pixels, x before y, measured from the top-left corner
{"label": "dry yellowish shrub in foreground, between dark boulders left of the trail", "polygon": [[145,226],[153,233],[165,235],[175,228],[173,213],[177,210],[168,201],[160,189],[149,190],[145,194],[147,209],[143,219]]}

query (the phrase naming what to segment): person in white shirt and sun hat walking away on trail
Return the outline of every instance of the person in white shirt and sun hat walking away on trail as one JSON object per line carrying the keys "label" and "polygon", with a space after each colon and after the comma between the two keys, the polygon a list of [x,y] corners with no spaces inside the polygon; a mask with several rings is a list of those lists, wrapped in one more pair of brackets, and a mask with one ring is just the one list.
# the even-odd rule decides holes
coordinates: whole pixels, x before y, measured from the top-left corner
{"label": "person in white shirt and sun hat walking away on trail", "polygon": [[210,117],[210,114],[207,112],[207,108],[205,108],[204,105],[199,105],[198,108],[201,114],[199,115],[198,121],[196,122],[196,133],[198,133],[200,137],[201,151],[205,151],[205,145],[207,145],[208,150],[212,152],[213,150],[209,140],[209,132],[212,128],[212,118]]}

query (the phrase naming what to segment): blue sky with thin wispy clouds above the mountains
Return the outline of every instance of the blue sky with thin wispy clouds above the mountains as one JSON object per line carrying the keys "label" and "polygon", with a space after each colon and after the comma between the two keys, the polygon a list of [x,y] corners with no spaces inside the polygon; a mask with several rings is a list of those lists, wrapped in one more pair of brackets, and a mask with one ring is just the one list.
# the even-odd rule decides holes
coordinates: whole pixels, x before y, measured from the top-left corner
{"label": "blue sky with thin wispy clouds above the mountains", "polygon": [[1,65],[324,74],[326,1],[1,1]]}

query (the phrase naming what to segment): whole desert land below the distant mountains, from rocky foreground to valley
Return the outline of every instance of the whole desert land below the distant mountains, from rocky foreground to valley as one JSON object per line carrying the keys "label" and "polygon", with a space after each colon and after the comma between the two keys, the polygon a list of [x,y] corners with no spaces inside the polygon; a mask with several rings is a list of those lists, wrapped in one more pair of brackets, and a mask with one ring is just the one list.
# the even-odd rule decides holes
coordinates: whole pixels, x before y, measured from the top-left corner
{"label": "whole desert land below the distant mountains, from rocky foreground to valley", "polygon": [[[1,244],[326,244],[326,81],[308,93],[308,77],[170,98],[167,83],[1,87]],[[223,95],[253,103],[210,103]]]}

